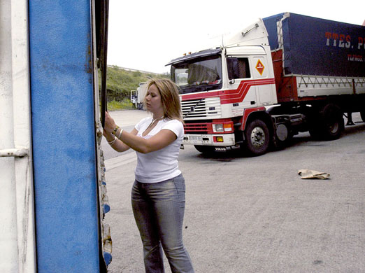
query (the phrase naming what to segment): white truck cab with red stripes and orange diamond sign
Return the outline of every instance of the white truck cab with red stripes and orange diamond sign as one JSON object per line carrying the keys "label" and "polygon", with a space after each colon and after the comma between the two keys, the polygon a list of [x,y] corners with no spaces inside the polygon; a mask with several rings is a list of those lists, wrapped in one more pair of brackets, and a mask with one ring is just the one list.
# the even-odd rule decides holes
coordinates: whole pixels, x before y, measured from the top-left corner
{"label": "white truck cab with red stripes and orange diamond sign", "polygon": [[277,103],[267,36],[259,20],[224,45],[169,63],[171,79],[180,87],[183,144],[201,152],[240,147],[248,116],[262,115],[265,106]]}

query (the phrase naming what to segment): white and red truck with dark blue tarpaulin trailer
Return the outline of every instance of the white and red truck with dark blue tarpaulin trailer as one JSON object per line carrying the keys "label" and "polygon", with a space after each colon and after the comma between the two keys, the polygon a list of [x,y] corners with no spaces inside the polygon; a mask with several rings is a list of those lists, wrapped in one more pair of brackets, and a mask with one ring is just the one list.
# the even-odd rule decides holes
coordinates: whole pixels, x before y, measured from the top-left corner
{"label": "white and red truck with dark blue tarpaulin trailer", "polygon": [[183,144],[263,155],[299,132],[334,140],[343,116],[365,121],[365,27],[280,13],[214,48],[172,59]]}

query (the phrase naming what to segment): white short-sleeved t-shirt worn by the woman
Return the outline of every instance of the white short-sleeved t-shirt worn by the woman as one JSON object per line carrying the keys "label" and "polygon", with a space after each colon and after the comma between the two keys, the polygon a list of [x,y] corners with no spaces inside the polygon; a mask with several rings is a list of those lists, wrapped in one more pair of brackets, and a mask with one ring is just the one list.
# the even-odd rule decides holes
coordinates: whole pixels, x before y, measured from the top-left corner
{"label": "white short-sleeved t-shirt worn by the woman", "polygon": [[[152,122],[152,118],[143,118],[136,126],[137,136],[143,137],[147,127]],[[181,174],[178,168],[178,155],[180,144],[184,137],[184,126],[180,120],[159,120],[157,125],[146,134],[143,139],[149,139],[160,130],[171,130],[176,134],[176,140],[172,144],[151,153],[137,153],[137,167],[135,170],[136,181],[141,183],[157,183],[172,179]]]}

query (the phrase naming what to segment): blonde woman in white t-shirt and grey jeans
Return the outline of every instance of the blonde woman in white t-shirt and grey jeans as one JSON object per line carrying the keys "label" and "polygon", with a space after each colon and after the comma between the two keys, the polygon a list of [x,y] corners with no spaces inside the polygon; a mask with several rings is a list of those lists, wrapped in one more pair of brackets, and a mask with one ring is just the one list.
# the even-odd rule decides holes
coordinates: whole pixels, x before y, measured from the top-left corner
{"label": "blonde woman in white t-shirt and grey jeans", "polygon": [[106,113],[104,136],[115,151],[137,153],[131,204],[143,242],[145,272],[164,272],[162,248],[172,272],[194,272],[183,245],[185,179],[178,169],[183,141],[178,88],[167,79],[150,80],[143,118],[128,133]]}

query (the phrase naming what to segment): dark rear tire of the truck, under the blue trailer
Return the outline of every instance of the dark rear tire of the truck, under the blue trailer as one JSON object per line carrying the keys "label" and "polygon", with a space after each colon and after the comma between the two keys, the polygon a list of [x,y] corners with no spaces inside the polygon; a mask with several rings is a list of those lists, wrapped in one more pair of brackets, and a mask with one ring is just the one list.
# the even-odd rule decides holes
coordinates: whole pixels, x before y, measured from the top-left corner
{"label": "dark rear tire of the truck, under the blue trailer", "polygon": [[310,136],[315,139],[334,140],[344,130],[343,113],[335,104],[327,104],[312,120]]}

